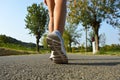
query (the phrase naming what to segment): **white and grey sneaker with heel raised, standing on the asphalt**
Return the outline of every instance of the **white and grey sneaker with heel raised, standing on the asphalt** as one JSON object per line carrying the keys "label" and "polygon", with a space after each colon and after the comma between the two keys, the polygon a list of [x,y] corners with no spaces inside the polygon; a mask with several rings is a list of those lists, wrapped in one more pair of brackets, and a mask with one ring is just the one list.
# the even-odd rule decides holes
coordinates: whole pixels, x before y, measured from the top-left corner
{"label": "white and grey sneaker with heel raised, standing on the asphalt", "polygon": [[[47,43],[51,50],[54,51],[51,53],[50,58],[52,58],[55,63],[68,63],[64,41],[59,31],[56,30],[48,34]],[[52,56],[52,54],[54,56]]]}

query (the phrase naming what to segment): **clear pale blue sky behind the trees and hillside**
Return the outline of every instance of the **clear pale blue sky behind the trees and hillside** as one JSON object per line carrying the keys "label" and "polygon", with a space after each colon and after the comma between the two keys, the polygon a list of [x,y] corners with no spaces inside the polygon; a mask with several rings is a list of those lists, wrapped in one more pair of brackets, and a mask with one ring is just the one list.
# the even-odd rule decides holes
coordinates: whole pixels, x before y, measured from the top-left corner
{"label": "clear pale blue sky behind the trees and hillside", "polygon": [[[25,29],[25,16],[27,15],[27,7],[33,3],[39,4],[43,0],[0,0],[0,34],[13,37],[23,42],[35,43],[35,36],[29,34],[29,30]],[[82,28],[82,26],[81,26]],[[106,44],[120,44],[118,38],[118,30],[112,26],[102,23],[100,34],[105,33]],[[85,32],[81,42],[85,41]]]}

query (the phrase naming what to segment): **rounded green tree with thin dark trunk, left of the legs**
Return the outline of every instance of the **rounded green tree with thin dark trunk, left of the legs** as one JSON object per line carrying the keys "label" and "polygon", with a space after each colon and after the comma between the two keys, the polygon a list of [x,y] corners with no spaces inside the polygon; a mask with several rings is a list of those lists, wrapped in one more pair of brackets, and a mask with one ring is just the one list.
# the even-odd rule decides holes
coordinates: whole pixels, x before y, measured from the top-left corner
{"label": "rounded green tree with thin dark trunk, left of the legs", "polygon": [[26,28],[30,30],[30,34],[36,36],[36,48],[39,52],[39,39],[46,30],[48,10],[43,6],[43,3],[40,3],[28,6],[27,11],[28,14],[25,18]]}

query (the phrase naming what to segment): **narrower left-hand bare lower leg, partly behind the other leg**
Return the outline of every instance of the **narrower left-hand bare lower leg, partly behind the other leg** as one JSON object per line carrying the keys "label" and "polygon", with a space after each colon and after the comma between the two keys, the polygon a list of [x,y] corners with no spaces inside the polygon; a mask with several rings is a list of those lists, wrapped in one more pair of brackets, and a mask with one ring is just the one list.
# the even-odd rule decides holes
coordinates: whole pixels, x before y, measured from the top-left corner
{"label": "narrower left-hand bare lower leg, partly behind the other leg", "polygon": [[49,25],[48,25],[48,29],[49,32],[53,32],[54,30],[54,0],[46,0],[47,6],[48,6],[48,11],[49,11]]}

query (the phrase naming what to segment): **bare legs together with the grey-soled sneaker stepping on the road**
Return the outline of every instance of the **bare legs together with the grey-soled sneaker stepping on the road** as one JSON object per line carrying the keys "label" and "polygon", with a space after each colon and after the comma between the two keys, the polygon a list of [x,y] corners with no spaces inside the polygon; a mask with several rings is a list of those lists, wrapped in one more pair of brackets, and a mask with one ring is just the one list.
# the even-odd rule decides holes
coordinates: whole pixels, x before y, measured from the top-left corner
{"label": "bare legs together with the grey-soled sneaker stepping on the road", "polygon": [[[48,4],[48,2],[51,3]],[[54,63],[57,64],[67,64],[68,58],[64,47],[64,41],[60,35],[60,33],[63,33],[65,26],[66,0],[47,0],[47,5],[50,15],[50,24],[51,21],[54,24],[52,30],[50,28],[51,32],[53,32],[47,36],[47,43],[50,46],[53,54],[53,56],[51,56],[51,59],[53,59]],[[50,5],[52,5],[52,7]]]}

